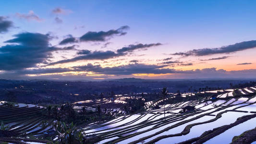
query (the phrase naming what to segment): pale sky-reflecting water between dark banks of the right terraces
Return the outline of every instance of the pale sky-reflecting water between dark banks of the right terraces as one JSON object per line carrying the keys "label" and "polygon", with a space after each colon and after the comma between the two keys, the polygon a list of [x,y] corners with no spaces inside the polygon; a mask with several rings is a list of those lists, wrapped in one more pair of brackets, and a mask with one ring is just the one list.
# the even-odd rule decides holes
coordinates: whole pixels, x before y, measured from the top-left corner
{"label": "pale sky-reflecting water between dark banks of the right terraces", "polygon": [[[219,110],[219,111],[217,111],[217,112],[212,113],[213,115],[217,115],[218,113],[220,113],[220,112],[222,112],[222,111],[225,111],[225,110],[232,110],[233,108],[237,108],[237,107],[241,107],[241,106],[248,105],[249,103],[239,104],[239,103],[245,102],[247,99],[248,99],[247,97],[242,97],[242,98],[239,98],[237,101],[235,101],[235,99],[232,98],[232,99],[229,99],[225,105],[222,105],[222,104],[225,103],[226,100],[217,100],[217,101],[215,101],[214,103],[209,104],[208,106],[204,106],[206,103],[202,103],[202,104],[193,103],[193,104],[189,104],[189,105],[196,105],[196,108],[200,108],[200,109],[209,109],[209,108],[213,108],[213,106],[212,106],[213,104],[218,105],[218,106],[219,106],[218,108],[221,108],[221,106],[226,106],[227,104],[230,104],[230,103],[232,103],[232,102],[234,102],[234,101],[235,101],[235,102],[232,103],[232,105],[233,105],[233,104],[238,104],[238,105],[236,105],[236,106],[232,106],[232,107],[229,107],[229,108],[225,108],[225,109],[222,109],[222,110]],[[256,99],[256,97],[253,98],[253,99],[251,99],[249,102],[254,102],[255,99]],[[211,101],[208,101],[208,103],[209,103],[209,102],[211,102]],[[166,107],[168,107],[168,108],[166,108],[166,112],[167,112],[167,111],[169,111],[169,112],[179,112],[180,110],[182,110],[181,108],[182,108],[184,105],[186,105],[186,104],[188,104],[188,102],[179,103],[179,105],[173,105],[173,104],[172,104],[172,105],[167,105]],[[199,115],[202,115],[202,114],[204,114],[204,113],[208,113],[208,112],[214,111],[214,110],[216,110],[216,109],[218,109],[218,108],[213,108],[213,109],[207,110],[207,111],[205,111],[205,112],[201,112],[201,113],[196,114],[196,115],[194,115],[194,116],[190,116],[190,117],[188,117],[188,118],[185,118],[184,120],[190,120],[190,119],[192,119],[192,118],[195,118],[196,116],[199,116]],[[253,104],[253,105],[250,105],[250,106],[246,106],[246,107],[243,107],[243,108],[238,108],[238,109],[236,109],[236,110],[244,110],[244,111],[249,111],[249,112],[250,112],[250,111],[256,111],[256,104]],[[160,118],[163,118],[163,116],[164,116],[164,114],[158,113],[158,112],[163,113],[163,108],[162,108],[162,109],[151,110],[151,112],[154,112],[154,113],[156,113],[156,114],[150,114],[150,113],[144,114],[144,116],[143,116],[141,119],[136,120],[135,122],[132,122],[132,123],[130,123],[130,124],[128,124],[128,125],[125,125],[125,126],[122,126],[122,125],[125,124],[125,123],[127,123],[127,122],[131,122],[131,121],[133,121],[133,120],[139,118],[141,115],[139,115],[139,114],[134,114],[134,115],[132,115],[131,117],[125,116],[125,117],[127,117],[127,119],[124,119],[124,120],[118,118],[118,119],[115,119],[115,120],[117,120],[117,123],[113,123],[113,124],[110,124],[110,125],[107,125],[107,126],[95,128],[95,129],[92,129],[92,130],[88,130],[88,131],[86,131],[86,132],[96,132],[96,131],[99,131],[99,130],[105,130],[105,131],[102,131],[102,132],[109,132],[109,131],[113,131],[113,130],[118,130],[118,129],[126,128],[126,127],[128,127],[128,126],[133,126],[133,125],[138,124],[138,123],[140,123],[140,122],[143,122],[143,121],[145,121],[145,120],[147,120],[147,121],[159,120]],[[158,114],[157,114],[157,113],[158,113]],[[193,127],[191,128],[190,133],[188,133],[188,134],[186,134],[186,135],[182,135],[182,136],[165,138],[165,139],[162,139],[162,140],[158,141],[157,144],[174,144],[174,143],[179,143],[179,142],[182,142],[182,141],[191,139],[191,138],[195,138],[195,137],[200,136],[200,135],[201,135],[203,132],[205,132],[205,131],[212,130],[212,129],[216,128],[216,127],[220,127],[220,126],[223,126],[223,125],[226,125],[226,124],[233,123],[237,118],[242,117],[242,116],[244,116],[244,115],[250,115],[250,114],[252,114],[252,113],[231,112],[231,111],[230,111],[230,112],[227,112],[227,113],[223,113],[223,114],[222,114],[222,117],[219,118],[219,119],[216,120],[216,121],[213,121],[213,122],[210,122],[210,123],[206,123],[206,124],[200,124],[200,125],[193,126]],[[170,114],[170,113],[166,114],[166,116],[171,116],[171,115],[172,115],[172,116],[175,116],[175,115],[177,115],[177,114]],[[171,118],[167,118],[167,120],[168,120],[168,119],[172,119],[172,116],[171,116]],[[182,118],[182,117],[181,117],[181,118]],[[199,118],[199,119],[197,119],[197,120],[194,120],[194,121],[185,123],[185,124],[180,125],[180,126],[178,126],[178,127],[176,127],[176,128],[173,128],[173,129],[171,129],[171,130],[169,130],[169,131],[162,132],[162,133],[160,133],[160,134],[158,134],[158,135],[156,135],[156,136],[154,136],[154,137],[151,137],[151,138],[149,138],[149,139],[146,139],[145,142],[149,142],[150,140],[153,140],[153,139],[155,139],[155,138],[157,138],[157,137],[159,137],[159,136],[162,136],[162,135],[169,135],[169,134],[180,133],[180,132],[183,131],[183,129],[185,128],[185,126],[187,126],[187,125],[189,125],[189,124],[197,123],[197,122],[204,122],[204,121],[211,120],[211,119],[214,119],[214,118],[215,118],[215,116],[204,116],[203,118]],[[111,120],[111,121],[105,122],[104,124],[108,124],[108,123],[113,122],[113,121],[115,121],[115,120]],[[139,138],[142,138],[142,137],[145,137],[145,136],[154,134],[154,133],[156,133],[156,132],[159,132],[159,131],[161,131],[161,130],[167,128],[167,127],[170,127],[171,125],[174,125],[174,124],[179,123],[179,122],[184,121],[184,120],[178,120],[178,121],[172,122],[172,123],[170,123],[170,124],[163,124],[163,125],[161,125],[161,127],[157,128],[157,129],[154,129],[154,130],[152,130],[152,131],[149,131],[149,132],[145,132],[145,133],[136,135],[136,136],[131,137],[131,138],[129,138],[129,139],[123,140],[122,142],[119,142],[118,144],[127,144],[127,143],[130,143],[130,142],[133,142],[133,141],[135,141],[135,140],[138,140]],[[255,119],[254,119],[254,120],[255,120]],[[248,123],[248,122],[246,122],[246,123]],[[103,124],[101,124],[101,125],[103,125]],[[121,126],[121,127],[114,128],[114,127],[116,127],[116,126]],[[133,132],[129,132],[129,133],[123,134],[122,136],[129,135],[129,134],[136,133],[136,132],[142,132],[142,131],[145,131],[145,130],[148,130],[148,129],[152,128],[153,126],[155,126],[155,124],[153,124],[153,125],[148,125],[148,126],[146,126],[146,127],[144,127],[144,128],[140,128],[140,129],[138,129],[138,130],[134,130]],[[252,128],[254,128],[254,127],[255,127],[255,126],[253,126]],[[106,130],[106,129],[108,129],[108,128],[113,128],[113,129]],[[229,144],[229,143],[231,142],[231,140],[232,140],[232,137],[233,137],[234,135],[239,135],[239,134],[243,133],[244,131],[247,131],[247,130],[252,129],[252,128],[249,128],[249,126],[245,125],[245,126],[244,126],[244,129],[241,130],[241,132],[240,132],[240,131],[237,131],[237,130],[234,128],[233,131],[235,131],[235,132],[231,133],[231,134],[228,136],[228,140],[223,141],[223,138],[220,137],[222,134],[220,134],[220,135],[219,135],[219,138],[216,136],[215,138],[213,138],[213,140],[208,141],[206,144],[216,144],[216,143],[220,143],[220,144],[226,144],[226,143],[227,143],[227,144]],[[124,131],[125,131],[125,130],[124,130]],[[99,133],[102,133],[102,132],[99,132]],[[127,132],[128,132],[128,131],[127,131]],[[227,132],[227,131],[226,131],[226,132]],[[96,133],[98,133],[98,132],[96,132]],[[118,133],[118,132],[117,132],[117,133]],[[100,142],[100,144],[106,143],[106,142],[108,142],[108,141],[110,141],[110,140],[117,139],[117,138],[118,138],[118,137],[114,137],[114,138],[110,138],[110,139],[103,140],[103,141]]]}

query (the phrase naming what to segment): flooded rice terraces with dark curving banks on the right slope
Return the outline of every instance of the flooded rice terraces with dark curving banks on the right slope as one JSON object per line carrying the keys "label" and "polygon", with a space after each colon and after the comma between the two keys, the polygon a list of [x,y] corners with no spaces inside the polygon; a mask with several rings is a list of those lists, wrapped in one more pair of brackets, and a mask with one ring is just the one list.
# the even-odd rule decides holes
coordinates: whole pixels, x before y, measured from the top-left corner
{"label": "flooded rice terraces with dark curving banks on the right slope", "polygon": [[[86,135],[99,136],[98,144],[193,144],[200,141],[205,132],[230,126],[218,135],[206,135],[209,137],[204,140],[205,144],[229,144],[234,136],[256,127],[252,124],[256,120],[253,90],[254,87],[239,89],[240,95],[237,95],[229,89],[222,91],[217,98],[205,97],[175,104],[168,104],[168,99],[164,99],[165,106],[162,105],[164,100],[147,102],[146,111],[94,123],[83,131]],[[152,107],[156,104],[160,105],[157,109]],[[183,112],[187,106],[195,107],[195,110]]]}

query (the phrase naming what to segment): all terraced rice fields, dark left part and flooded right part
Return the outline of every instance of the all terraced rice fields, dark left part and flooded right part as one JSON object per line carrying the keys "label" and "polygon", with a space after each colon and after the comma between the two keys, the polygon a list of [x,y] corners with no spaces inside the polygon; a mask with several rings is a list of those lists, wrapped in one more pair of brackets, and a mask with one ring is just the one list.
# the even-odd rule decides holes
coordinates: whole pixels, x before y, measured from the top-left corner
{"label": "all terraced rice fields, dark left part and flooded right part", "polygon": [[[91,111],[91,117],[98,118],[87,121],[87,124],[80,122],[77,126],[84,137],[94,138],[93,143],[227,144],[232,142],[234,136],[255,128],[252,124],[256,120],[254,86],[196,93],[168,93],[165,98],[147,102],[141,94],[114,97],[69,104],[78,113]],[[144,101],[142,110],[125,110],[123,106],[130,103],[129,100]],[[98,107],[100,112],[97,112]],[[195,109],[184,110],[187,107]],[[60,118],[49,118],[53,114],[47,114],[47,109],[32,104],[1,101],[0,118],[3,128],[9,131],[2,131],[0,141],[19,144],[58,140],[54,122]],[[107,117],[107,113],[110,117]],[[59,112],[59,115],[63,113]],[[234,139],[234,144],[235,141],[239,140]]]}

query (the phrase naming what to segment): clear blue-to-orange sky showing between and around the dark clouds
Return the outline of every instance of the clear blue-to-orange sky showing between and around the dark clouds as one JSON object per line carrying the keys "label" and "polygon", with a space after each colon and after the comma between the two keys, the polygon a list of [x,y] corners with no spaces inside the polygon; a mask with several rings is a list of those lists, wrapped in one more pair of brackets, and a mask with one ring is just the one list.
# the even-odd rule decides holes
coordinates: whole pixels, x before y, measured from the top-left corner
{"label": "clear blue-to-orange sky showing between and around the dark clouds", "polygon": [[[106,74],[103,70],[100,72],[87,70],[83,71],[83,74],[81,74],[82,70],[79,70],[79,74],[72,71],[72,73],[68,74],[53,72],[45,75],[40,73],[18,75],[15,73],[17,70],[7,71],[0,67],[1,75],[3,78],[15,76],[17,79],[31,77],[46,79],[108,79],[134,76],[142,78],[190,78],[195,77],[196,74],[197,77],[200,77],[202,73],[193,72],[191,74],[189,71],[195,71],[196,69],[212,70],[211,68],[215,68],[214,72],[218,73],[217,77],[226,77],[227,75],[243,77],[244,70],[249,70],[252,72],[251,75],[255,75],[253,73],[256,68],[256,60],[253,59],[256,54],[254,45],[250,45],[250,48],[242,48],[242,50],[236,49],[235,47],[237,46],[234,45],[241,42],[249,43],[249,41],[255,40],[255,6],[256,1],[254,0],[0,1],[0,16],[4,17],[4,21],[12,22],[12,27],[8,28],[8,32],[0,34],[0,47],[2,48],[7,45],[4,41],[13,39],[15,37],[13,35],[20,33],[50,34],[54,38],[49,40],[49,45],[63,48],[74,45],[59,45],[61,40],[67,38],[67,35],[72,35],[79,39],[79,37],[89,31],[107,32],[109,30],[117,30],[124,25],[130,27],[128,30],[125,30],[126,34],[123,36],[112,35],[104,41],[78,42],[75,43],[77,45],[76,48],[69,51],[50,51],[49,55],[52,55],[52,57],[44,58],[48,60],[48,63],[72,59],[77,57],[77,51],[83,49],[90,50],[91,53],[108,50],[116,52],[117,49],[129,47],[129,45],[161,43],[157,47],[143,47],[129,51],[129,54],[108,59],[86,59],[57,65],[39,62],[34,67],[24,67],[23,71],[50,68],[73,70],[75,66],[88,64],[100,65],[101,69],[106,67],[125,69],[125,67],[132,64],[132,66],[143,65],[146,67],[154,65],[156,66],[155,70],[170,70],[170,73],[156,72],[145,74],[151,72],[145,69],[145,72],[135,71],[143,74],[133,73],[134,71],[132,71],[126,75],[115,72]],[[54,13],[53,11],[56,9],[60,9],[61,12]],[[29,15],[29,12],[37,16],[38,19],[25,17]],[[59,19],[59,22],[56,21],[56,18]],[[107,47],[102,48],[106,43],[109,43]],[[221,48],[228,45],[234,45],[233,49],[236,50],[231,50],[229,53],[218,52],[217,54],[211,53],[204,56],[196,56],[196,54],[186,57],[171,55],[173,53],[187,52],[192,49]],[[3,56],[6,55],[2,53]],[[157,67],[163,65],[164,62],[161,60],[169,57],[172,58],[172,61],[176,61],[176,64],[161,68]],[[227,58],[208,60],[220,57]],[[6,58],[15,59],[15,57]],[[34,58],[31,58],[31,60],[34,60]],[[131,60],[137,60],[137,62],[131,63],[129,62]],[[8,61],[5,64],[8,64]],[[12,66],[12,62],[9,65]],[[131,69],[135,70],[136,67],[132,66]],[[219,74],[218,70],[222,69],[226,72]],[[236,74],[233,74],[231,71],[236,71]],[[6,74],[10,72],[12,74]],[[204,76],[204,78],[208,77],[212,78],[212,76],[207,76],[207,74]]]}

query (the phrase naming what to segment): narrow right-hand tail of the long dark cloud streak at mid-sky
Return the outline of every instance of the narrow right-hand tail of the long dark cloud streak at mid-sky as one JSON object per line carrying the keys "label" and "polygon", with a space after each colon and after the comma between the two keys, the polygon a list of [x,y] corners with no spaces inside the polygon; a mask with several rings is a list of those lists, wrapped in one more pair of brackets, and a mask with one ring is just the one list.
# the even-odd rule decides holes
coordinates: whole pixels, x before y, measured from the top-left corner
{"label": "narrow right-hand tail of the long dark cloud streak at mid-sky", "polygon": [[156,44],[137,44],[137,45],[129,45],[128,47],[123,47],[120,49],[117,49],[118,53],[125,53],[125,52],[132,52],[135,49],[145,49],[149,47],[154,47],[154,46],[160,46],[162,45],[161,43],[156,43]]}

